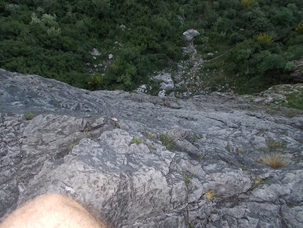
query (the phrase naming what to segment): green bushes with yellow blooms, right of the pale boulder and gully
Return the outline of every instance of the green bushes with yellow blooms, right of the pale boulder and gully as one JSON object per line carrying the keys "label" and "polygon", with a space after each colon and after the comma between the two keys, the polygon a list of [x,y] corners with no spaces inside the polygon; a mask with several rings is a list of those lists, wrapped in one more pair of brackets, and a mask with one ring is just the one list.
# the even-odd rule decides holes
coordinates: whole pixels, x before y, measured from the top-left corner
{"label": "green bushes with yellow blooms, right of the pale boulder and gully", "polygon": [[[227,83],[243,94],[289,80],[290,61],[303,57],[303,1],[218,0],[204,9],[194,43],[206,59],[212,90]],[[211,52],[214,56],[207,56]],[[217,59],[215,59],[218,56]],[[226,79],[227,78],[227,79]]]}

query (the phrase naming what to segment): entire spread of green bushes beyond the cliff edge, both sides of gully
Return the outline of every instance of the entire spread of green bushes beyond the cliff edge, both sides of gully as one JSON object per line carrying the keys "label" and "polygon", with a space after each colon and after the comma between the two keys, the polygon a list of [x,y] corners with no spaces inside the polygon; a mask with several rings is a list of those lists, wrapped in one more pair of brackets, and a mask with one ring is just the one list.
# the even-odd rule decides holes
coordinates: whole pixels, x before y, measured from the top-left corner
{"label": "entire spread of green bushes beyond the cliff edge, both sides of gully", "polygon": [[287,82],[291,61],[303,57],[302,8],[302,0],[2,0],[0,68],[133,90],[186,58],[182,33],[194,28],[198,54],[211,60],[199,73],[213,78],[211,90],[259,92]]}

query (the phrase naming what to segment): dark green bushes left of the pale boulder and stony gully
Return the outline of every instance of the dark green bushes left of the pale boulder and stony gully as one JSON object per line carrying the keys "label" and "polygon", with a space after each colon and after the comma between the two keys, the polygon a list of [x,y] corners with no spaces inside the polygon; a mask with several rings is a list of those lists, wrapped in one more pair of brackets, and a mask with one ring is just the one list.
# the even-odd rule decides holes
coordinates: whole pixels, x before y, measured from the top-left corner
{"label": "dark green bushes left of the pale boulder and stony gully", "polygon": [[[131,90],[181,58],[178,13],[192,16],[198,2],[1,1],[0,67],[80,88]],[[102,53],[96,61],[89,54],[94,47]],[[115,58],[94,77],[93,66],[109,54]]]}

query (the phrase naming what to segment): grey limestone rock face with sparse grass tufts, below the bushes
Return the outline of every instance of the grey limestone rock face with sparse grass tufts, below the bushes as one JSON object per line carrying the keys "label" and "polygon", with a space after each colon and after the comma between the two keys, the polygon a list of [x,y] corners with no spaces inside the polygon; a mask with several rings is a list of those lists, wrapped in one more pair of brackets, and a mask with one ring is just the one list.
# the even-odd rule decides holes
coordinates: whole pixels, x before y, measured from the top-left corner
{"label": "grey limestone rock face with sparse grass tufts, below the bushes", "polygon": [[[1,220],[62,193],[113,227],[303,226],[302,115],[219,92],[161,99],[0,78]],[[262,164],[271,154],[287,165]]]}

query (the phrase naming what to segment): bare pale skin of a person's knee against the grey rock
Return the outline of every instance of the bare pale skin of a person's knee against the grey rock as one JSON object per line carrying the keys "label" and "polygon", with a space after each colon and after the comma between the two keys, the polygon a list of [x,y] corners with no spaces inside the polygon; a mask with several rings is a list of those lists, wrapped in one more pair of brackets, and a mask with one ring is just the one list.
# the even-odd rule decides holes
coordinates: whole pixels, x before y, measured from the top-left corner
{"label": "bare pale skin of a person's knee against the grey rock", "polygon": [[0,228],[106,228],[75,200],[58,194],[39,196],[9,215]]}

